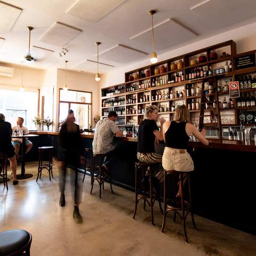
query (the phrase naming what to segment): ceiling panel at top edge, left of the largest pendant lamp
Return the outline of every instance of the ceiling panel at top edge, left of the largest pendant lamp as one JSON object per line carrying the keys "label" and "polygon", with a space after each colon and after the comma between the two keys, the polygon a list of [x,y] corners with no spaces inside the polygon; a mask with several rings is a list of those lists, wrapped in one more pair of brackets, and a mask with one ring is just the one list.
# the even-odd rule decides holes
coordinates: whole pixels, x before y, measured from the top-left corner
{"label": "ceiling panel at top edge, left of the largest pendant lamp", "polygon": [[77,18],[96,23],[126,0],[78,0],[67,10]]}

